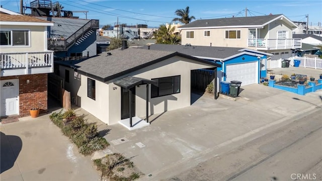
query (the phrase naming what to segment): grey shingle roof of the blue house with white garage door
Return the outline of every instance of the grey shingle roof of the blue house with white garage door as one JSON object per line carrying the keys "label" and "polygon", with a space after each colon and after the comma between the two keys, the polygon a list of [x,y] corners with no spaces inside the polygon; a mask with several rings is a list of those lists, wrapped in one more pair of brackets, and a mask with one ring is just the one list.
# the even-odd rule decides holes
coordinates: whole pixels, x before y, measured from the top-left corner
{"label": "grey shingle roof of the blue house with white garage door", "polygon": [[[140,47],[147,49],[147,46]],[[190,56],[210,57],[214,59],[223,59],[240,53],[240,49],[233,47],[218,47],[218,46],[185,46],[173,44],[151,44],[151,50],[162,51],[178,51],[180,53],[188,54]]]}

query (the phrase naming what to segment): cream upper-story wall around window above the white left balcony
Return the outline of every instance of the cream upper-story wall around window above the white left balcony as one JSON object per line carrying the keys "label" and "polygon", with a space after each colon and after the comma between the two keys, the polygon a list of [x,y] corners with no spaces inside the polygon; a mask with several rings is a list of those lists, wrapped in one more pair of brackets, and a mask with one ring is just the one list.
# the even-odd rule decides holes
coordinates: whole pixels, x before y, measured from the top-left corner
{"label": "cream upper-story wall around window above the white left balcony", "polygon": [[[29,37],[29,45],[30,46],[15,46],[14,52],[35,52],[35,51],[45,51],[45,32],[44,28],[47,26],[18,26],[18,25],[1,25],[1,30],[29,30],[30,37]],[[13,52],[13,46],[2,46],[1,52]]]}

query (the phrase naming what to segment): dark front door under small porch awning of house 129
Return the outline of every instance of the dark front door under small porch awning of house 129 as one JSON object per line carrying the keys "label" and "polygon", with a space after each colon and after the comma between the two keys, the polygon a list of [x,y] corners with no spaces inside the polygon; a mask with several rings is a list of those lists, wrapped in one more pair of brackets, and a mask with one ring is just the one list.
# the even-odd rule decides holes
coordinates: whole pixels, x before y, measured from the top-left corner
{"label": "dark front door under small porch awning of house 129", "polygon": [[[130,91],[121,88],[121,119],[130,117]],[[135,87],[131,88],[131,112],[132,117],[135,116]]]}

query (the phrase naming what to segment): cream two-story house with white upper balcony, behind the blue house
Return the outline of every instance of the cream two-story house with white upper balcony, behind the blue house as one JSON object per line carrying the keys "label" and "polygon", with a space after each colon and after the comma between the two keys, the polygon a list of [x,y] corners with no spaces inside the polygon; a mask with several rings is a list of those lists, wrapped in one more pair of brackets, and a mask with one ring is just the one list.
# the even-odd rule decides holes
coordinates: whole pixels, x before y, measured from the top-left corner
{"label": "cream two-story house with white upper balcony, behind the blue house", "polygon": [[291,49],[301,48],[301,39],[292,38],[297,28],[284,15],[196,20],[181,26],[182,44],[241,47],[273,54],[267,68],[281,67]]}

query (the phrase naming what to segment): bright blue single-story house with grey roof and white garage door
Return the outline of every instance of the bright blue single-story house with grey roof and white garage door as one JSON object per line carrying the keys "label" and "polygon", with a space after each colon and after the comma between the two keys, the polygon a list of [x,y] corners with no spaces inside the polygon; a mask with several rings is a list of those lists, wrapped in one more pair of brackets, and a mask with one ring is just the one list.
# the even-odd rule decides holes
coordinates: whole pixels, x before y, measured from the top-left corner
{"label": "bright blue single-story house with grey roof and white garage door", "polygon": [[[267,59],[272,54],[236,47],[193,46],[193,45],[168,45],[151,44],[140,47],[142,49],[178,51],[195,56],[219,65],[217,81],[240,81],[241,86],[258,84],[261,77],[267,77]],[[217,85],[219,88],[219,84]]]}

